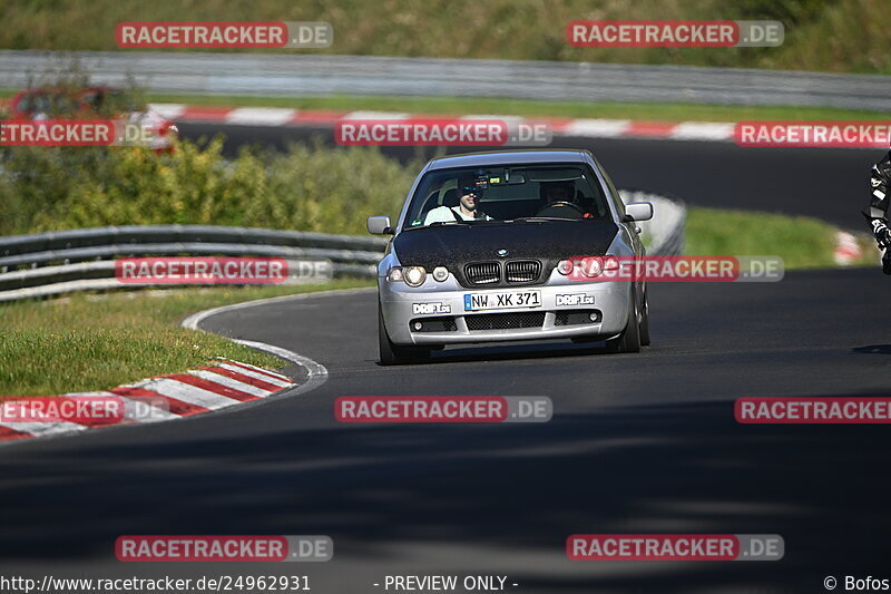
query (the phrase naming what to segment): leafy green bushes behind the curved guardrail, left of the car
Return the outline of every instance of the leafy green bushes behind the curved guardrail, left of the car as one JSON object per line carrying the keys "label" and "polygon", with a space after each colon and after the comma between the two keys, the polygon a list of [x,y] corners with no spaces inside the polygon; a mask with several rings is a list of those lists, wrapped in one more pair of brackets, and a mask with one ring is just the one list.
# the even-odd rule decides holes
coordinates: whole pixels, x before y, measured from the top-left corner
{"label": "leafy green bushes behind the curved guardrail, left of the car", "polygon": [[364,233],[396,214],[417,167],[378,149],[245,149],[188,142],[146,148],[8,148],[0,153],[0,234],[102,225],[213,224]]}

